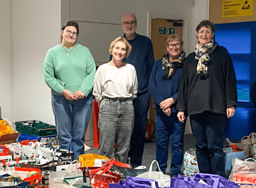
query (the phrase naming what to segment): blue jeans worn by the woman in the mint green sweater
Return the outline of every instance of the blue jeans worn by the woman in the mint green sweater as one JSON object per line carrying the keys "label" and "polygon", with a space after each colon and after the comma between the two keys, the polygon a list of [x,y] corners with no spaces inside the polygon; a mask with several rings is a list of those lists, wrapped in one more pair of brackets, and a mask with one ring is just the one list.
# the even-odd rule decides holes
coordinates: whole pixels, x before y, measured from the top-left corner
{"label": "blue jeans worn by the woman in the mint green sweater", "polygon": [[52,95],[51,98],[59,148],[74,152],[74,159],[78,159],[84,154],[92,95],[74,101],[67,100],[63,95]]}

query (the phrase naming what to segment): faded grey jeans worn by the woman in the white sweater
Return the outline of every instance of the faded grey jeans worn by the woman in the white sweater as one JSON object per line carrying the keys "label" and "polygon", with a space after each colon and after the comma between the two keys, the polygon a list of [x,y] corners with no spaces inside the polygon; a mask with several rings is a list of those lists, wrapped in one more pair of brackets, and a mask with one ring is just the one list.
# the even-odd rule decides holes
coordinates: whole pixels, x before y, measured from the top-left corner
{"label": "faded grey jeans worn by the woman in the white sweater", "polygon": [[99,107],[99,155],[127,163],[128,149],[134,125],[132,99],[103,98]]}

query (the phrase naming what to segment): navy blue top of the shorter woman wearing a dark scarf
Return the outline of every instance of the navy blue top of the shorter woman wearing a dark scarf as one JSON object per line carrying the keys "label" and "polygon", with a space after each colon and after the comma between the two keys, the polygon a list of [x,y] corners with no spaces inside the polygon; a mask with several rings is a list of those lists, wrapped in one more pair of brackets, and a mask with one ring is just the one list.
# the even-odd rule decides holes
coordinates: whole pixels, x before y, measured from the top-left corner
{"label": "navy blue top of the shorter woman wearing a dark scarf", "polygon": [[154,98],[154,108],[160,108],[159,103],[166,98],[173,98],[175,103],[171,106],[172,113],[177,113],[176,105],[182,68],[176,69],[172,77],[166,80],[162,79],[163,72],[162,59],[158,59],[152,68],[149,80],[149,92]]}

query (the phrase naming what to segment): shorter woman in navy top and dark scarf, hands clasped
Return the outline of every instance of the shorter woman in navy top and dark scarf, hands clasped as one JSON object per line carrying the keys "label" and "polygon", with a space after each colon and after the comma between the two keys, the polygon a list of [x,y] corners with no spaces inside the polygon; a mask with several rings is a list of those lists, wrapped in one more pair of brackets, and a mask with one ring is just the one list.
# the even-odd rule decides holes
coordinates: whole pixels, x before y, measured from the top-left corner
{"label": "shorter woman in navy top and dark scarf, hands clasped", "polygon": [[183,135],[185,123],[177,117],[177,97],[182,66],[185,60],[183,41],[178,35],[166,39],[166,53],[158,59],[150,75],[149,92],[154,98],[156,126],[156,160],[163,173],[166,172],[168,145],[171,142],[172,161],[170,175],[181,173],[183,159]]}

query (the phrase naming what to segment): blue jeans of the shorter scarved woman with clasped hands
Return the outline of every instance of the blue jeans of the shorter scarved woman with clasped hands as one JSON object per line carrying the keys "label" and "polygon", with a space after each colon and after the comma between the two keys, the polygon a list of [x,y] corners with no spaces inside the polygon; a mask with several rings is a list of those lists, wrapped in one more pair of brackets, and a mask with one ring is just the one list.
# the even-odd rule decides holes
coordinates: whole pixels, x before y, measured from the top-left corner
{"label": "blue jeans of the shorter scarved woman with clasped hands", "polygon": [[181,173],[185,123],[178,120],[177,113],[166,116],[162,109],[156,108],[156,160],[163,173],[167,168],[168,146],[171,143],[170,175],[177,177]]}

